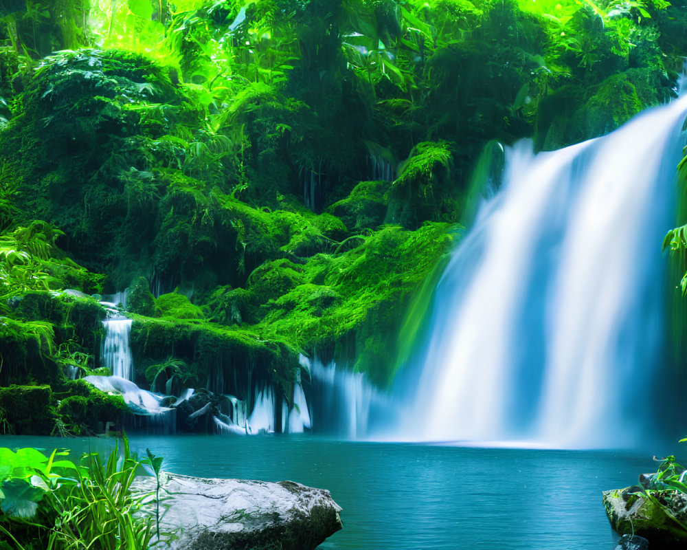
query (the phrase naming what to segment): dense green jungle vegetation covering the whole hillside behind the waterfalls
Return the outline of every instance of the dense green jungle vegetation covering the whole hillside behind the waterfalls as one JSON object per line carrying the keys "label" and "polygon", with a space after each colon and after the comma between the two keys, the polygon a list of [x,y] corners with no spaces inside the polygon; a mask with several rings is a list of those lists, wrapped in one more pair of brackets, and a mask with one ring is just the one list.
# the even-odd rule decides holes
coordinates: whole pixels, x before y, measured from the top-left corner
{"label": "dense green jungle vegetation covering the whole hillside behind the waterfalls", "polygon": [[126,288],[142,387],[389,384],[502,145],[608,133],[686,53],[684,0],[4,1],[0,433],[126,414],[67,376]]}

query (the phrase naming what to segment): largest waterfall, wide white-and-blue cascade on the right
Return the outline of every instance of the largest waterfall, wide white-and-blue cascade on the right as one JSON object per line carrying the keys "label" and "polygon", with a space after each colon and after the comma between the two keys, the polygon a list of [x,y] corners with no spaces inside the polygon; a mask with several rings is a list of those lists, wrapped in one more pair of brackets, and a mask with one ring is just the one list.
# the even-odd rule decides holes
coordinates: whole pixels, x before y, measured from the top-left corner
{"label": "largest waterfall, wide white-and-blue cascade on the right", "polygon": [[560,151],[507,151],[502,189],[454,251],[396,388],[399,404],[414,395],[397,437],[639,443],[686,115],[681,99]]}

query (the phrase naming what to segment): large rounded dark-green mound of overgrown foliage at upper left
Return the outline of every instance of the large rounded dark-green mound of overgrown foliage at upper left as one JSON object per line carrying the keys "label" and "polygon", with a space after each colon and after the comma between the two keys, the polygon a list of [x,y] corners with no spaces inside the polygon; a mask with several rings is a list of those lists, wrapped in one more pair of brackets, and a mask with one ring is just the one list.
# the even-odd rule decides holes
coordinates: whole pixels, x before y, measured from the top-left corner
{"label": "large rounded dark-green mound of overgrown foliage at upper left", "polygon": [[[97,50],[56,54],[34,72],[23,109],[0,133],[3,166],[16,174],[16,206],[65,230],[68,252],[89,268],[109,271],[129,263],[128,255],[145,259],[156,203],[148,201],[138,215],[138,199],[150,191],[157,154],[150,140],[174,134],[177,124],[198,114],[167,70],[145,58]],[[161,125],[147,124],[151,117]],[[132,192],[136,184],[140,189]],[[122,223],[127,217],[131,223]],[[113,270],[119,288],[140,273],[122,271]]]}

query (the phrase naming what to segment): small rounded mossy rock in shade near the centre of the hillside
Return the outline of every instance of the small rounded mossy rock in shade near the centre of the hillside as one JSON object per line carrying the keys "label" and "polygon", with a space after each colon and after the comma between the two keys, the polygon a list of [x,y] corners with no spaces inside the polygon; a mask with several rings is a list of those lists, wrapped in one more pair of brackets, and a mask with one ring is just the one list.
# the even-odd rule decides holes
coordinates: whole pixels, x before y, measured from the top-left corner
{"label": "small rounded mossy rock in shade near the centre of the hillside", "polygon": [[327,211],[341,219],[350,231],[376,228],[387,212],[388,181],[361,181],[350,195],[335,202]]}

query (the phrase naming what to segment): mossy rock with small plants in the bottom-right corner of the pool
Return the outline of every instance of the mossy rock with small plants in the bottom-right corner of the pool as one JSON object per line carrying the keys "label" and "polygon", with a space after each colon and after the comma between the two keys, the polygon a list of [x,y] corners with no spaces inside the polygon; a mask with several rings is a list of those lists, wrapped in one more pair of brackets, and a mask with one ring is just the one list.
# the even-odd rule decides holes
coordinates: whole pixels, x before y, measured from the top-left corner
{"label": "mossy rock with small plants in the bottom-right corner of the pool", "polygon": [[652,549],[687,547],[687,495],[675,490],[653,491],[653,498],[638,486],[603,493],[611,527],[620,535],[638,535]]}

